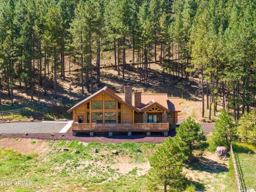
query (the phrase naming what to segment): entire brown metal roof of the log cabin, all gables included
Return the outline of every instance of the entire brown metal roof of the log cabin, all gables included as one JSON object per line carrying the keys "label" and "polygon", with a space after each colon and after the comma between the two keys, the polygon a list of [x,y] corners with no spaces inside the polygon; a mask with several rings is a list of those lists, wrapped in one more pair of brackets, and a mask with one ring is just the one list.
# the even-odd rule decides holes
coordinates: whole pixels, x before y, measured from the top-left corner
{"label": "entire brown metal roof of the log cabin, all gables included", "polygon": [[125,102],[124,99],[124,93],[116,93],[115,91],[109,89],[107,86],[103,87],[101,90],[93,93],[86,99],[78,102],[76,105],[71,107],[68,110],[68,113],[71,113],[73,110],[75,110],[77,107],[83,105],[84,103],[89,102],[93,98],[95,98],[98,94],[106,93],[111,98],[117,100],[120,103],[123,103],[124,105],[130,107],[137,113],[144,112],[148,110],[151,107],[157,106],[167,112],[169,111],[177,111],[180,112],[180,98],[178,97],[168,97],[166,93],[141,93],[141,106],[140,107],[134,107],[134,93],[132,94],[132,105]]}

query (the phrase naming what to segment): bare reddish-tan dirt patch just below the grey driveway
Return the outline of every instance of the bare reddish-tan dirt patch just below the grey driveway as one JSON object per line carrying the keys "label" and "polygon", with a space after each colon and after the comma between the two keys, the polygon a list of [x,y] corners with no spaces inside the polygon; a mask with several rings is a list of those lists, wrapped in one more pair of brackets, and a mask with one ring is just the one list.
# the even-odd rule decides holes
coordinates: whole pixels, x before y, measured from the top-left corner
{"label": "bare reddish-tan dirt patch just below the grey driveway", "polygon": [[19,151],[21,154],[43,154],[49,152],[49,144],[39,139],[3,138],[0,139],[0,148]]}

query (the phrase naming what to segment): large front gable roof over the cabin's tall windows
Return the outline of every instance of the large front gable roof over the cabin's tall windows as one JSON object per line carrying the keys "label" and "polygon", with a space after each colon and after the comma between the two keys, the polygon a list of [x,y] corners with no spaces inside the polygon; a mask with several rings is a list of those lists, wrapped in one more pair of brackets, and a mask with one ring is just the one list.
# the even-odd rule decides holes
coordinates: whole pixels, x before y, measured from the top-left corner
{"label": "large front gable roof over the cabin's tall windows", "polygon": [[117,100],[118,102],[121,102],[123,103],[124,105],[127,105],[128,107],[130,107],[131,109],[135,110],[136,112],[139,113],[139,109],[130,105],[129,103],[125,102],[121,97],[119,97],[115,91],[109,89],[107,86],[103,87],[101,90],[93,93],[92,95],[90,95],[89,97],[87,97],[86,99],[76,103],[76,105],[74,105],[73,107],[71,107],[69,110],[68,110],[68,113],[71,113],[73,110],[75,110],[77,107],[83,105],[84,103],[87,103],[88,101],[91,101],[93,98],[95,98],[98,94],[101,94],[101,93],[106,93],[108,94],[111,98]]}

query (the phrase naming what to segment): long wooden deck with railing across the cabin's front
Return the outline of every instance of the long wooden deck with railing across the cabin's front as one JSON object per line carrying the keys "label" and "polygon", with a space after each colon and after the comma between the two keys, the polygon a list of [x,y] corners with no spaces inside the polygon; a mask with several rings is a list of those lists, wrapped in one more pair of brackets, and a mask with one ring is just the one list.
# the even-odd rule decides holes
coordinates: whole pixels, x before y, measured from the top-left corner
{"label": "long wooden deck with railing across the cabin's front", "polygon": [[169,131],[169,123],[73,123],[72,131],[82,132],[164,132]]}

